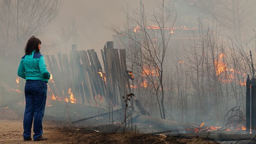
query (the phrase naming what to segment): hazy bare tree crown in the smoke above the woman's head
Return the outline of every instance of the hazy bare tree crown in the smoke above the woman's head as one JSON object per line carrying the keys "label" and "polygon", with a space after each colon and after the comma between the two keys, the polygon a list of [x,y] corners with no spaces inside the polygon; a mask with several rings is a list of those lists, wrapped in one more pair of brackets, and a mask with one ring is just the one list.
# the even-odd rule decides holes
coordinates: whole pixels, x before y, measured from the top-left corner
{"label": "hazy bare tree crown in the smoke above the woman's head", "polygon": [[60,0],[0,0],[0,49],[15,50],[56,18]]}

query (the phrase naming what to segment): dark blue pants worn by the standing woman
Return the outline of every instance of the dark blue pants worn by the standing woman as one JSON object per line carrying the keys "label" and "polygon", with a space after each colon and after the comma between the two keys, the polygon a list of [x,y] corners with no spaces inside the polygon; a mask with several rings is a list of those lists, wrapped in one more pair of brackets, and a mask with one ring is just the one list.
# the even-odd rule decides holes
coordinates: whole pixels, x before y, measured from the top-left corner
{"label": "dark blue pants worn by the standing woman", "polygon": [[25,85],[26,109],[24,113],[23,128],[24,139],[31,137],[31,128],[34,118],[33,139],[43,135],[43,116],[45,112],[47,84],[40,80],[27,80]]}

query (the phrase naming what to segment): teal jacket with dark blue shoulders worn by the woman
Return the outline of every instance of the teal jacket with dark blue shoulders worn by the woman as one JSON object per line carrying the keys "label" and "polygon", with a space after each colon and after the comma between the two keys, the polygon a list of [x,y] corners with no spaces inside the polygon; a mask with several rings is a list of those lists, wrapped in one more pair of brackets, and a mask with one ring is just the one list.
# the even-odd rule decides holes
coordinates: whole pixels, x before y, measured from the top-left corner
{"label": "teal jacket with dark blue shoulders worn by the woman", "polygon": [[31,55],[25,55],[20,60],[18,69],[18,76],[29,80],[41,80],[46,81],[50,78],[45,64],[45,57],[40,52],[33,50]]}

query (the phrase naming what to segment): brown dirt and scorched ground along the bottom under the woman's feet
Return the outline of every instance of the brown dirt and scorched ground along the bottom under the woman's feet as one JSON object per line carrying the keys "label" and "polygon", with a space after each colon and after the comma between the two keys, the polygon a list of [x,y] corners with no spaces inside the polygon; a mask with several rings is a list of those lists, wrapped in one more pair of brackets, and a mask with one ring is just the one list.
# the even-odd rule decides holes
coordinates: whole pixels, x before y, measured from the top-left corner
{"label": "brown dirt and scorched ground along the bottom under the woman's feet", "polygon": [[108,125],[69,125],[63,121],[54,121],[50,117],[45,117],[43,123],[43,135],[48,137],[48,140],[24,142],[22,117],[9,108],[0,109],[0,144],[217,144],[197,137],[160,139],[157,136],[135,132],[108,133]]}

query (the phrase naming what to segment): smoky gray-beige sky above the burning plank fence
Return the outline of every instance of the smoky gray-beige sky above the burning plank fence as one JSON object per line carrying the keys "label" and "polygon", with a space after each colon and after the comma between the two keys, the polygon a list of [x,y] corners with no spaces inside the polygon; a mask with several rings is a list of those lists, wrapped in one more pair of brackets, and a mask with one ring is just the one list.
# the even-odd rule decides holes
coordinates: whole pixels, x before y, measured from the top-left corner
{"label": "smoky gray-beige sky above the burning plank fence", "polygon": [[[143,0],[142,2],[145,5],[145,11],[151,13],[156,1]],[[140,7],[140,0],[64,0],[59,15],[48,29],[49,32],[41,39],[43,43],[49,45],[48,43],[59,37],[58,29],[64,25],[70,25],[69,23],[74,20],[76,35],[67,43],[68,51],[72,43],[77,43],[78,49],[95,49],[99,55],[104,43],[112,40],[111,33],[104,26],[110,23],[122,24],[126,20],[123,9],[127,9],[127,3],[130,14],[133,9]]]}

